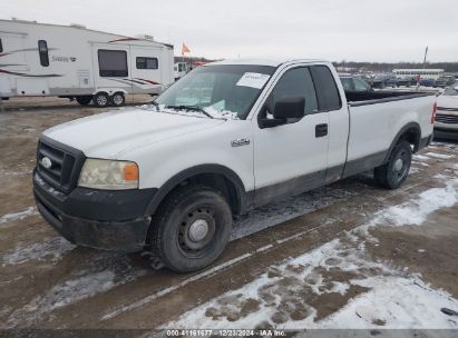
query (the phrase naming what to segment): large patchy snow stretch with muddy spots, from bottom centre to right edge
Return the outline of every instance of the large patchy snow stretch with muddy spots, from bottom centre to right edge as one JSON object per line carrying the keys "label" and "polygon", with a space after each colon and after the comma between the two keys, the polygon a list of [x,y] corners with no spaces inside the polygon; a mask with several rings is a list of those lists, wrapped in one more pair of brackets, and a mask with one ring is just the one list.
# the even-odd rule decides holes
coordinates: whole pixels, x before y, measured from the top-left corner
{"label": "large patchy snow stretch with muddy spots, from bottom centre to right edge", "polygon": [[[366,232],[361,230],[369,227],[421,225],[429,213],[456,203],[457,190],[458,179],[451,179],[445,188],[426,190],[381,210],[342,239],[273,266],[252,282],[185,312],[164,328],[458,328],[458,320],[440,311],[442,307],[458,309],[458,300],[432,289],[419,276],[408,275],[407,269],[372,261],[366,254],[366,241],[371,238],[361,237]],[[327,282],[325,274],[335,269],[354,277],[347,282]],[[347,295],[355,287],[366,291],[333,315],[315,320],[318,308],[309,305],[309,299],[329,292]]]}

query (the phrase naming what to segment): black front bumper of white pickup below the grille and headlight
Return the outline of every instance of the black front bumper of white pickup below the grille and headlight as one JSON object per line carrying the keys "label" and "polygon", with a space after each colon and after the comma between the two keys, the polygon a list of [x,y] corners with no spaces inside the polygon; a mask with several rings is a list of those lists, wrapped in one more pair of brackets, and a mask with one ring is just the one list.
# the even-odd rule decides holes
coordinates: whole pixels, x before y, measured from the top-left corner
{"label": "black front bumper of white pickup below the grille and headlight", "polygon": [[140,251],[149,227],[145,210],[156,192],[77,187],[64,195],[33,172],[33,196],[41,216],[70,242],[95,249]]}

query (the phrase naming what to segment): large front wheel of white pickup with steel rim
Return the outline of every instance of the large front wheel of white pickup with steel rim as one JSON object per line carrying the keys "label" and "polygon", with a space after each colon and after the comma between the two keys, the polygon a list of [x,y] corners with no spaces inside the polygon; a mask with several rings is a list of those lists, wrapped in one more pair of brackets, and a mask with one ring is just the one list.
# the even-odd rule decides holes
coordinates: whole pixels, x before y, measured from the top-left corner
{"label": "large front wheel of white pickup with steel rim", "polygon": [[165,199],[152,227],[152,249],[164,265],[176,272],[196,271],[223,252],[232,230],[232,212],[220,191],[185,186]]}

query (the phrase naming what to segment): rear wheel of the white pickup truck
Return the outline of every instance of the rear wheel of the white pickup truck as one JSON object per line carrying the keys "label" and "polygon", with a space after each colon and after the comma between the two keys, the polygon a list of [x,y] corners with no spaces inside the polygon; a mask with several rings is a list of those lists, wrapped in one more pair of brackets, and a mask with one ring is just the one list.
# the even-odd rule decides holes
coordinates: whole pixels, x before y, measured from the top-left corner
{"label": "rear wheel of the white pickup truck", "polygon": [[410,143],[399,141],[390,153],[388,162],[373,170],[376,182],[387,189],[397,189],[409,176],[412,160]]}

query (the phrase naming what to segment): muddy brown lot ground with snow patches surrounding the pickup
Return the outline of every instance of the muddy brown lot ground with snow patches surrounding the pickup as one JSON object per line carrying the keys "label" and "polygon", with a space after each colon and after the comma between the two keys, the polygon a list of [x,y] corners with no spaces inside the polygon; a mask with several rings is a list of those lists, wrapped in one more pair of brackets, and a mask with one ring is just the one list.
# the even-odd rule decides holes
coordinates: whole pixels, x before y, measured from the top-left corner
{"label": "muddy brown lot ground with snow patches surrounding the pickup", "polygon": [[0,328],[458,328],[441,311],[458,311],[458,145],[422,150],[394,191],[363,173],[254,210],[213,266],[177,275],[77,248],[35,208],[40,132],[101,111],[0,115]]}

